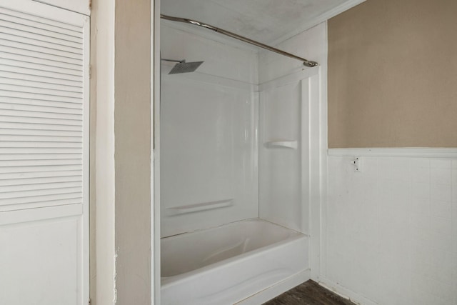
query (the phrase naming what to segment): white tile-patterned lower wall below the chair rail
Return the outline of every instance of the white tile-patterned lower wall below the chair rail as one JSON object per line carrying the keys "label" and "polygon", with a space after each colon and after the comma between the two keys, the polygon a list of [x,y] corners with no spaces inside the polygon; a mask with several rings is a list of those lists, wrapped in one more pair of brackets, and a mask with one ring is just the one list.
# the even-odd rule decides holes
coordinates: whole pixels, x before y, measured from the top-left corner
{"label": "white tile-patterned lower wall below the chair rail", "polygon": [[331,151],[323,282],[361,304],[457,304],[457,154],[396,153],[353,152],[356,172]]}

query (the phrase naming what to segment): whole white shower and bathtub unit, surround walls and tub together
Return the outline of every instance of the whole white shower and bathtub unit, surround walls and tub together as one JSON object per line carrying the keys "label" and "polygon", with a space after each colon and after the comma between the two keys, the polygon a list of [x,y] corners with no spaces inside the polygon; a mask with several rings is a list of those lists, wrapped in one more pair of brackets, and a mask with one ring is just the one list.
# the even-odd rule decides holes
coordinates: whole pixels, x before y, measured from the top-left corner
{"label": "whole white shower and bathtub unit, surround walls and tub together", "polygon": [[319,66],[162,18],[161,304],[261,304],[311,276]]}

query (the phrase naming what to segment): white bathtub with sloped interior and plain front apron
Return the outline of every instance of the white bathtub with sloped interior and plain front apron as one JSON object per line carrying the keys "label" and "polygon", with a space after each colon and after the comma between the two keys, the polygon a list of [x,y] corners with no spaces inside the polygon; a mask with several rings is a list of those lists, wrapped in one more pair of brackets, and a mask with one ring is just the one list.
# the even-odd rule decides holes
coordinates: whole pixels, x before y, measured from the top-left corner
{"label": "white bathtub with sloped interior and plain front apron", "polygon": [[309,279],[308,237],[261,219],[161,239],[161,304],[261,304]]}

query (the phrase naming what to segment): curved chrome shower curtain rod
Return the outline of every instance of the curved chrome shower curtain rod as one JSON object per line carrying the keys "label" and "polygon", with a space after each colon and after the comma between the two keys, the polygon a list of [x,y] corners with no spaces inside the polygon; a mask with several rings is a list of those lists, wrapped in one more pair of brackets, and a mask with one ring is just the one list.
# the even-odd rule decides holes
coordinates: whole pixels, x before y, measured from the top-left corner
{"label": "curved chrome shower curtain rod", "polygon": [[318,63],[316,63],[316,61],[308,61],[308,59],[303,59],[301,57],[295,56],[295,55],[287,53],[285,51],[281,51],[281,50],[273,48],[271,46],[267,46],[266,44],[261,44],[258,41],[255,41],[255,40],[252,40],[252,39],[248,39],[246,37],[243,37],[243,36],[240,36],[238,34],[232,33],[230,31],[226,31],[224,29],[216,28],[216,26],[211,26],[209,24],[204,24],[203,22],[200,22],[200,21],[195,21],[195,20],[186,19],[186,18],[166,16],[166,15],[162,15],[162,14],[160,15],[160,18],[161,19],[166,19],[166,20],[171,20],[171,21],[184,22],[185,24],[194,24],[196,26],[204,27],[206,29],[210,29],[210,30],[216,31],[218,33],[224,34],[226,36],[230,36],[230,37],[232,37],[234,39],[238,39],[238,40],[247,42],[248,44],[253,44],[254,46],[259,46],[259,47],[261,47],[263,49],[267,49],[269,51],[273,51],[273,52],[276,52],[278,54],[291,57],[293,59],[298,59],[299,61],[303,61],[303,65],[304,66],[317,66],[318,65]]}

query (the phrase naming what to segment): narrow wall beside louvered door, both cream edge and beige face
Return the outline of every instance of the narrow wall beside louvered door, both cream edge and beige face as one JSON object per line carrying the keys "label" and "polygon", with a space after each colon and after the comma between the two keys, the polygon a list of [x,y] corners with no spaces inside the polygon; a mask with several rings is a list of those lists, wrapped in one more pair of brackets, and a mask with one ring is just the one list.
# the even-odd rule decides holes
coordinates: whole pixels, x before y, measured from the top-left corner
{"label": "narrow wall beside louvered door, both cream edge and beige face", "polygon": [[150,0],[92,1],[91,304],[95,305],[151,304],[150,21]]}

